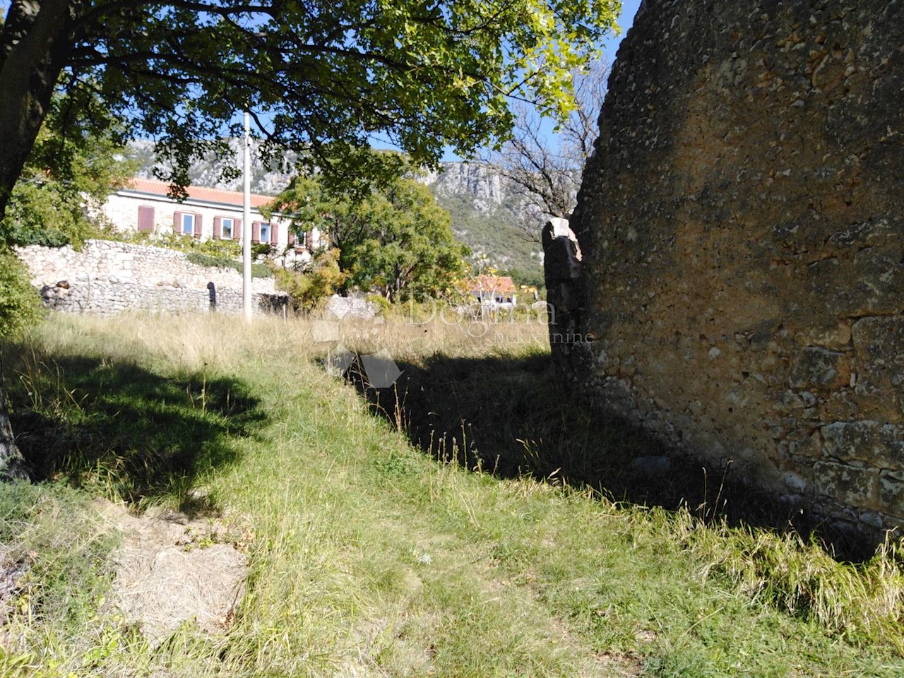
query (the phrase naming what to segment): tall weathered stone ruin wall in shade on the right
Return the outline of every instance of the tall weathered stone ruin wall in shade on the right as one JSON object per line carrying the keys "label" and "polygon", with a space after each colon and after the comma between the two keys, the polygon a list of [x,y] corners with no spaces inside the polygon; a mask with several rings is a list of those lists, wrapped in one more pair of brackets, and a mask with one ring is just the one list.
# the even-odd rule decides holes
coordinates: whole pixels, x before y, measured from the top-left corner
{"label": "tall weathered stone ruin wall in shade on the right", "polygon": [[579,390],[874,534],[904,524],[902,15],[644,0],[571,221],[586,290],[547,271]]}

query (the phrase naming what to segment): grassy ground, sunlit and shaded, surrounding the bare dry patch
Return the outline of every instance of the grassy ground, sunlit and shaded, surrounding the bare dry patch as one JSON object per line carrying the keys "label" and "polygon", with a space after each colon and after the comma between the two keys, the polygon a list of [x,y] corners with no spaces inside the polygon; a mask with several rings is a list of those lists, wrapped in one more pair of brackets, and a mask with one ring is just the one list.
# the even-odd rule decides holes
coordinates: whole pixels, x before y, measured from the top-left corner
{"label": "grassy ground, sunlit and shaded, surrounding the bare dry patch", "polygon": [[[644,506],[584,485],[636,442],[555,409],[541,327],[348,325],[344,342],[390,348],[404,398],[376,404],[325,376],[304,323],[54,316],[7,344],[15,424],[53,482],[0,490],[3,543],[32,563],[0,674],[904,672],[891,550],[855,566],[652,491]],[[466,467],[496,459],[495,474]],[[185,624],[152,647],[124,626],[104,603],[115,535],[90,494],[251,535],[229,631]]]}

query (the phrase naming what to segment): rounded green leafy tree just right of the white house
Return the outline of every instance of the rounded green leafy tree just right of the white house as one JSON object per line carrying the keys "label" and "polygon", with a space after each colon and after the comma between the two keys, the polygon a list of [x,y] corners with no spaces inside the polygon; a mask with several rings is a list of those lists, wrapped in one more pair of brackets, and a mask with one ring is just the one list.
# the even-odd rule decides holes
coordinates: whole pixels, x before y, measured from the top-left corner
{"label": "rounded green leafy tree just right of the white house", "polygon": [[293,215],[298,230],[325,232],[338,250],[346,287],[391,302],[442,294],[467,254],[455,240],[448,213],[412,177],[410,165],[400,167],[395,178],[372,182],[367,190],[341,190],[323,177],[299,177],[275,203]]}

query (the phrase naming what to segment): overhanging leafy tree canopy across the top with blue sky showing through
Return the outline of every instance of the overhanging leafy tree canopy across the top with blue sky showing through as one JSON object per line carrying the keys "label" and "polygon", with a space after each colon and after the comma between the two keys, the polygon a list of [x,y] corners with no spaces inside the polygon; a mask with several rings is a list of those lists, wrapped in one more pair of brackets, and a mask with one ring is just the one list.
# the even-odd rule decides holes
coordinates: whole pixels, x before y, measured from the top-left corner
{"label": "overhanging leafy tree canopy across the top with blue sky showing through", "polygon": [[[246,108],[265,150],[302,151],[312,165],[342,165],[374,136],[433,161],[443,146],[467,153],[504,132],[509,97],[566,115],[570,71],[597,53],[618,8],[617,0],[13,0],[0,33],[0,109],[21,136],[46,115],[45,90],[61,90],[87,118],[126,120],[130,135],[155,139],[171,161],[165,178],[179,185],[193,156],[227,131],[239,135]],[[16,152],[31,144],[13,141]]]}

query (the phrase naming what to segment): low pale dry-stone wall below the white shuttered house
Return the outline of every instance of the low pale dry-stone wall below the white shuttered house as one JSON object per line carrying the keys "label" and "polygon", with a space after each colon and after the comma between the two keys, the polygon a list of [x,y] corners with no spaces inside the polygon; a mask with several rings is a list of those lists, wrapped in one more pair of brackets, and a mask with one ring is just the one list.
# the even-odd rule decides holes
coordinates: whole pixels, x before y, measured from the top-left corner
{"label": "low pale dry-stone wall below the white shuttered house", "polygon": [[[183,252],[111,240],[71,247],[21,248],[32,284],[45,306],[69,313],[117,314],[125,310],[241,313],[241,274],[188,261]],[[272,278],[252,279],[259,312],[281,312],[287,297]]]}

